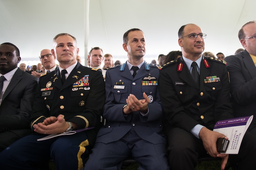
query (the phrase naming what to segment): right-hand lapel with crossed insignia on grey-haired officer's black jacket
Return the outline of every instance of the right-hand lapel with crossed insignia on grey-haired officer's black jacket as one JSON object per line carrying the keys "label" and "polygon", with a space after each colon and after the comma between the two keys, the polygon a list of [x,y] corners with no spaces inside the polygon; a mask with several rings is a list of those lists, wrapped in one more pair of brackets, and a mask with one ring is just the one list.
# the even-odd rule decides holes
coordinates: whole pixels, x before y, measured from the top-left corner
{"label": "right-hand lapel with crossed insignia on grey-haired officer's black jacket", "polygon": [[61,90],[66,87],[69,87],[71,84],[80,80],[84,74],[85,73],[83,73],[83,66],[78,62],[75,68],[71,71],[71,73],[67,77],[64,84],[62,85]]}

